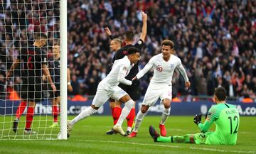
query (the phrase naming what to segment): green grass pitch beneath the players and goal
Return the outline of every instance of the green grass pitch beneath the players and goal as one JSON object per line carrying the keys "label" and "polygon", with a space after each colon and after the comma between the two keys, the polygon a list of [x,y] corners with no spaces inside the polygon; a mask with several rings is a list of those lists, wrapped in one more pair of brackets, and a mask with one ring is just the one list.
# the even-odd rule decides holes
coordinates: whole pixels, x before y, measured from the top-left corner
{"label": "green grass pitch beneath the players and goal", "polygon": [[[51,118],[48,116],[48,121],[41,123],[36,122],[39,118],[46,120],[43,116],[35,117],[33,127],[34,131],[39,133],[53,133],[54,135],[45,136],[23,136],[22,129],[18,130],[18,138],[55,138],[58,133],[58,128],[44,129],[44,126],[50,126]],[[72,119],[69,116],[68,119]],[[166,122],[167,136],[184,135],[186,133],[198,133],[198,128],[192,121],[191,116],[170,116]],[[23,119],[24,120],[24,119]],[[1,140],[0,153],[256,153],[256,118],[255,117],[240,117],[240,128],[238,131],[237,145],[195,145],[182,143],[154,143],[149,136],[149,125],[156,126],[159,131],[160,116],[146,116],[137,138],[127,138],[119,136],[105,135],[112,126],[110,116],[92,116],[88,119],[77,123],[67,141],[58,140]],[[3,117],[0,117],[0,134],[12,136],[11,122],[6,123],[3,129]],[[6,117],[5,121],[11,121],[11,117]],[[40,126],[39,126],[40,124]],[[19,123],[22,128],[24,122]],[[126,128],[124,123],[123,128]],[[214,130],[214,128],[211,128]],[[14,137],[10,137],[14,138]],[[2,138],[3,139],[3,138]]]}

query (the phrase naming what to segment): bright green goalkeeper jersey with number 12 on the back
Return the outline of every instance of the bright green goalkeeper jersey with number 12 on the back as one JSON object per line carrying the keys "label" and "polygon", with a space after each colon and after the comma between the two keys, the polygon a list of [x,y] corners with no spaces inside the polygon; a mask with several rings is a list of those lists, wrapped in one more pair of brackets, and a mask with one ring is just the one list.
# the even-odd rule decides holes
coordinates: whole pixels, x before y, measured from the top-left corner
{"label": "bright green goalkeeper jersey with number 12 on the back", "polygon": [[206,133],[213,122],[216,123],[216,128],[213,133],[208,133],[206,136],[206,144],[235,145],[240,122],[238,109],[227,103],[212,106],[206,121],[199,123],[198,127]]}

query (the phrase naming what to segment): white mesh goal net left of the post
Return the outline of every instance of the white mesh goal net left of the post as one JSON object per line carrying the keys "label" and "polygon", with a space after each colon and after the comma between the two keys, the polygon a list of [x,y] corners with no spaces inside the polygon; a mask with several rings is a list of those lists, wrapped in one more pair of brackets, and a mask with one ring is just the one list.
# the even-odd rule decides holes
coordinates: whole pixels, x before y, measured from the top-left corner
{"label": "white mesh goal net left of the post", "polygon": [[58,102],[60,1],[0,1],[1,140],[56,139],[65,128]]}

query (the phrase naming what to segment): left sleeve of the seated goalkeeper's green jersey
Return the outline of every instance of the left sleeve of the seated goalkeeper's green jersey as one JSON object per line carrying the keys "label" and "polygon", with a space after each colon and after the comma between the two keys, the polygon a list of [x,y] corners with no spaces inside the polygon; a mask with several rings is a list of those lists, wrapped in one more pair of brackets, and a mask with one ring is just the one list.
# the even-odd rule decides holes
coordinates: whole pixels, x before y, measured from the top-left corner
{"label": "left sleeve of the seated goalkeeper's green jersey", "polygon": [[210,128],[211,124],[218,119],[219,113],[216,106],[212,106],[207,114],[207,118],[204,123],[199,123],[198,127],[201,132],[206,133]]}

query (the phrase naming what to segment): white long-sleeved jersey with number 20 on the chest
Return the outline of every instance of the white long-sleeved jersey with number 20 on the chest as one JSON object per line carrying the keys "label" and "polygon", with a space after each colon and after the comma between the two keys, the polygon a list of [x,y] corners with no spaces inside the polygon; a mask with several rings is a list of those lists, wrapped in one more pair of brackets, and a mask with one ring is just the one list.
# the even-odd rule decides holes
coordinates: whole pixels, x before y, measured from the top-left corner
{"label": "white long-sleeved jersey with number 20 on the chest", "polygon": [[143,75],[148,72],[151,67],[154,68],[154,75],[151,79],[151,83],[154,84],[171,84],[172,76],[174,75],[174,70],[177,67],[184,77],[185,81],[188,81],[186,71],[181,64],[181,59],[176,55],[171,55],[168,62],[163,59],[163,55],[160,53],[151,57],[146,66],[138,72],[136,75],[137,79],[143,77]]}

